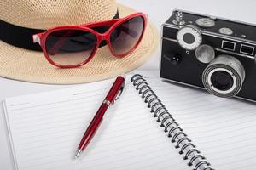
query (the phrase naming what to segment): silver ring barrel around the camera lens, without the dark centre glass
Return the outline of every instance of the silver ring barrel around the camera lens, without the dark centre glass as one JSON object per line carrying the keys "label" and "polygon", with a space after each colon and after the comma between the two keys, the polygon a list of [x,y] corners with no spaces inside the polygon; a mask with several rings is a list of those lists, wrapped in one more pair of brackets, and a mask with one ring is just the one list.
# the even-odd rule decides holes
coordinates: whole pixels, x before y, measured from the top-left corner
{"label": "silver ring barrel around the camera lens, without the dark centre glass", "polygon": [[[232,86],[229,89],[218,89],[212,83],[212,75],[217,72],[224,72],[227,76],[230,76]],[[202,82],[207,91],[210,94],[218,97],[227,98],[238,94],[241,90],[242,83],[245,79],[245,70],[241,65],[241,62],[230,55],[219,55],[216,59],[207,65],[207,68],[203,71]],[[218,81],[216,81],[218,82]]]}

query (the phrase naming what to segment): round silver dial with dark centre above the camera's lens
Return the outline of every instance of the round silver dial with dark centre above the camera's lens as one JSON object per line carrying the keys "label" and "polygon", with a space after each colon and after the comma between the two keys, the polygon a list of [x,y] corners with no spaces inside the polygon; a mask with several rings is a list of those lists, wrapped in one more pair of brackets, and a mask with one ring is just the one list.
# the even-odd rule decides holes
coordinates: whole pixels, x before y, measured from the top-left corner
{"label": "round silver dial with dark centre above the camera's lens", "polygon": [[186,50],[195,50],[202,42],[201,31],[196,26],[183,26],[177,31],[177,42]]}

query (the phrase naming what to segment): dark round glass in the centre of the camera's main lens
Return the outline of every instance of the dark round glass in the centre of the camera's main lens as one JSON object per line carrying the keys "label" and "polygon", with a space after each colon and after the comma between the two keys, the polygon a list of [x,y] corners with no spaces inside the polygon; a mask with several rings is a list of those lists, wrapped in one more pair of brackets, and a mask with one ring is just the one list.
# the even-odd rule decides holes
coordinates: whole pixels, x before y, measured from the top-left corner
{"label": "dark round glass in the centre of the camera's main lens", "polygon": [[211,77],[212,86],[218,90],[226,91],[232,88],[234,81],[232,76],[225,71],[216,71]]}

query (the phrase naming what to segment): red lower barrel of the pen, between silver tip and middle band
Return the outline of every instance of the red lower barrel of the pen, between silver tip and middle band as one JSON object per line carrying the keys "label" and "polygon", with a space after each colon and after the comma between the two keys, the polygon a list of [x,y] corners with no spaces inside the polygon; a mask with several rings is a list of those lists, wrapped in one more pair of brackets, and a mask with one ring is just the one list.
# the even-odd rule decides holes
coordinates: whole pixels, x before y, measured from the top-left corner
{"label": "red lower barrel of the pen, between silver tip and middle band", "polygon": [[89,127],[86,129],[83,138],[79,144],[79,150],[84,150],[87,145],[90,143],[90,140],[94,137],[98,127],[102,123],[104,113],[107,111],[108,105],[102,104],[101,107],[96,112],[96,115],[93,117],[92,121],[90,122]]}

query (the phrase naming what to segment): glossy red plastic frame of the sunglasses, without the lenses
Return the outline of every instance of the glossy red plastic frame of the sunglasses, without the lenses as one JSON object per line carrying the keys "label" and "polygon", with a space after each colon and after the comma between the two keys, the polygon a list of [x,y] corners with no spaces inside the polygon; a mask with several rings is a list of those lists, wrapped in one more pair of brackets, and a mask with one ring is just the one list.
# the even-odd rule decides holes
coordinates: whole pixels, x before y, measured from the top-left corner
{"label": "glossy red plastic frame of the sunglasses, without the lenses", "polygon": [[[132,18],[135,18],[137,16],[141,16],[143,18],[143,32],[141,37],[139,38],[139,40],[137,41],[137,43],[133,46],[133,48],[131,48],[130,51],[126,52],[125,54],[114,54],[113,48],[111,46],[111,42],[110,42],[110,36],[112,31],[119,25],[123,24],[125,21],[127,20],[131,20]],[[113,54],[113,56],[118,57],[118,58],[122,58],[125,57],[128,54],[131,54],[139,45],[139,43],[142,41],[144,32],[146,30],[146,26],[147,26],[147,15],[143,14],[143,13],[135,13],[135,14],[131,14],[126,16],[125,18],[122,19],[114,19],[114,20],[107,20],[107,21],[102,21],[102,22],[96,22],[96,23],[89,23],[89,24],[84,24],[81,26],[56,26],[54,28],[51,28],[45,32],[39,33],[34,35],[33,37],[38,37],[38,42],[41,45],[43,52],[44,52],[44,56],[45,58],[49,61],[49,63],[51,65],[55,65],[57,67],[60,68],[75,68],[75,67],[79,67],[81,65],[85,65],[86,63],[88,63],[90,61],[90,59],[93,58],[93,56],[96,54],[97,49],[99,48],[101,42],[103,40],[106,40],[108,42],[108,47],[111,51],[111,54]],[[108,31],[104,32],[104,33],[99,33],[97,31],[94,31],[93,27],[100,27],[100,26],[111,26]],[[60,30],[83,30],[83,31],[89,31],[91,33],[93,33],[94,35],[96,35],[96,47],[93,49],[93,51],[90,54],[90,57],[86,60],[84,60],[84,62],[78,64],[78,65],[60,65],[55,63],[52,59],[50,59],[46,48],[45,48],[45,42],[47,37],[49,36],[50,33],[52,33],[53,31],[60,31]]]}

